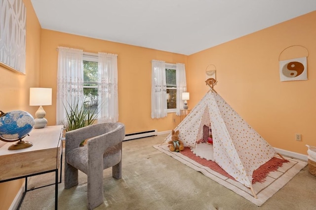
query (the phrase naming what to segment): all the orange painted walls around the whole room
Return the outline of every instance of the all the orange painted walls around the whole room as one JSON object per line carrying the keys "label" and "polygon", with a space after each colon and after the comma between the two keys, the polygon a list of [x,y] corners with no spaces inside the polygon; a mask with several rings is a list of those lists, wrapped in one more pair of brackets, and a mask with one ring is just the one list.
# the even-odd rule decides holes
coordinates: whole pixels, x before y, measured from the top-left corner
{"label": "all the orange painted walls around the whole room", "polygon": [[[172,113],[151,119],[150,61],[155,59],[186,64],[190,107],[207,91],[205,68],[214,64],[219,81],[216,90],[273,146],[306,154],[305,144],[316,145],[316,12],[184,56],[42,30],[30,0],[23,1],[27,7],[26,75],[0,67],[2,111],[22,109],[34,115],[38,107],[29,106],[29,88],[51,87],[53,105],[44,109],[48,125],[55,124],[56,48],[66,46],[118,54],[119,121],[126,125],[126,133],[166,131],[179,123]],[[290,45],[309,50],[307,81],[279,81],[278,56]],[[294,140],[295,133],[302,134],[301,142]],[[0,210],[11,205],[22,182],[0,184]]]}

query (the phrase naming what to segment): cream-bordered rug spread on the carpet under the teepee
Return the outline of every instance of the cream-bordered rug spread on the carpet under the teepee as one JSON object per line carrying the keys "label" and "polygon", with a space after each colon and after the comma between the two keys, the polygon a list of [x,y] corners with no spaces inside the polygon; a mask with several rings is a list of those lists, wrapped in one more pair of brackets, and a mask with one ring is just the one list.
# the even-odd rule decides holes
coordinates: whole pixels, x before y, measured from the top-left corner
{"label": "cream-bordered rug spread on the carpet under the teepee", "polygon": [[[291,180],[305,166],[307,166],[307,162],[284,157],[286,160],[288,160],[288,162],[282,163],[282,166],[278,167],[276,171],[274,171],[275,169],[270,170],[271,172],[269,172],[266,177],[264,178],[260,177],[259,180],[261,181],[257,181],[252,184],[252,187],[257,195],[257,199],[256,199],[254,198],[251,190],[248,187],[234,180],[233,177],[229,177],[229,175],[225,175],[224,170],[223,170],[224,173],[222,173],[221,171],[219,171],[220,169],[216,169],[217,164],[215,162],[207,161],[206,159],[197,157],[195,154],[193,154],[192,151],[190,151],[189,148],[186,147],[186,149],[182,152],[171,152],[169,150],[168,144],[154,145],[154,147],[158,149],[159,151],[180,161],[181,163],[189,166],[190,168],[196,170],[197,172],[200,172],[203,175],[218,182],[219,184],[227,187],[228,189],[234,191],[238,195],[244,197],[245,199],[247,199],[248,201],[254,203],[255,205],[259,207],[262,206],[269,198],[271,198],[279,189],[281,189],[289,180]],[[188,150],[189,150],[189,153],[192,153],[192,155],[188,154]],[[194,157],[203,161],[215,163],[216,165],[210,164],[210,166],[205,166],[205,164],[203,165],[203,163],[198,163],[199,160],[197,161],[193,160],[193,159],[196,159]],[[279,159],[279,157],[277,156],[275,158]],[[256,173],[254,172],[253,176],[255,175]],[[253,179],[257,179],[257,178],[253,177]]]}

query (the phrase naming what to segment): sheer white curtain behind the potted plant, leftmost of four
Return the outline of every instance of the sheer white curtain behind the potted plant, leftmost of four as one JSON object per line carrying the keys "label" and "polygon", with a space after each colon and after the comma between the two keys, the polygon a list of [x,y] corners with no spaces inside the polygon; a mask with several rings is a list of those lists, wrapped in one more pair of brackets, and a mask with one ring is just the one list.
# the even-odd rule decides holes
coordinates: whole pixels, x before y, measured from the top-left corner
{"label": "sheer white curtain behind the potted plant, leftmost of four", "polygon": [[[58,47],[56,123],[66,119],[68,103],[83,100],[83,51]],[[64,106],[65,105],[65,106]]]}

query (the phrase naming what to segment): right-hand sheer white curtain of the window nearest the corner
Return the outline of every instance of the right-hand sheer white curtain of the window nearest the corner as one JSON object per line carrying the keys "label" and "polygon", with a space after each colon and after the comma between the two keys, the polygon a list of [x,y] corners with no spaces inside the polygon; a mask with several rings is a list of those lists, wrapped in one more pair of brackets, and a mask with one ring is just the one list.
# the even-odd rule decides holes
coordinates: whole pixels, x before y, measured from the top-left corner
{"label": "right-hand sheer white curtain of the window nearest the corner", "polygon": [[177,82],[177,110],[176,115],[180,115],[180,109],[183,108],[184,101],[182,93],[187,92],[187,77],[184,64],[176,64],[176,82]]}

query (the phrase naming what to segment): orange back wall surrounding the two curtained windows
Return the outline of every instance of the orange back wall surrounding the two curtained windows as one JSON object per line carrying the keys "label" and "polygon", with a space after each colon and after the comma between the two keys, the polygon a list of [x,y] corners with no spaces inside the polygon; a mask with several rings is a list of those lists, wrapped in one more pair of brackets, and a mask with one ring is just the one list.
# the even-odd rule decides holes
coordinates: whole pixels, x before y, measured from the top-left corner
{"label": "orange back wall surrounding the two curtained windows", "polygon": [[[82,49],[84,52],[107,52],[118,55],[118,121],[125,124],[126,134],[157,129],[171,130],[179,117],[169,113],[162,119],[151,118],[151,60],[187,63],[187,56],[127,44],[120,44],[50,30],[41,32],[42,87],[53,89],[51,106],[45,106],[49,125],[56,123],[56,77],[58,46]],[[175,122],[173,119],[176,119]]]}

